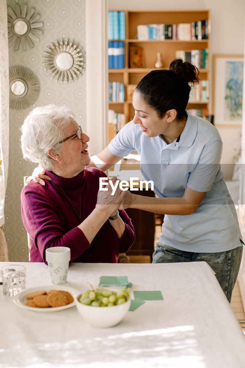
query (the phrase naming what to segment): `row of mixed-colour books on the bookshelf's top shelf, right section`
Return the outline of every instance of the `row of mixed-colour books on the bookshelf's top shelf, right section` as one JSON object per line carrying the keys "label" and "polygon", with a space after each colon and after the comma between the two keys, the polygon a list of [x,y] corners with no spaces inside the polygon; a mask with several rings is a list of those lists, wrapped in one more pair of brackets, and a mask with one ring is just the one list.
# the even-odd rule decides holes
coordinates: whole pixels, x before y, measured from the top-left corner
{"label": "row of mixed-colour books on the bookshelf's top shelf, right section", "polygon": [[137,26],[138,40],[203,40],[208,39],[208,20],[178,24],[146,24]]}

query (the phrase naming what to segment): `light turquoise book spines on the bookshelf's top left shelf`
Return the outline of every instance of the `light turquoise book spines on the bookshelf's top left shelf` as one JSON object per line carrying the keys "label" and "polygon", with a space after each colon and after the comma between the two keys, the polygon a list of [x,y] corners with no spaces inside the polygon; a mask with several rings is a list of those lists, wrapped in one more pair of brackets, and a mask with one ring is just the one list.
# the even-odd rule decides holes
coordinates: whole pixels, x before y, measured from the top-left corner
{"label": "light turquoise book spines on the bookshelf's top left shelf", "polygon": [[108,12],[108,39],[125,40],[125,11]]}

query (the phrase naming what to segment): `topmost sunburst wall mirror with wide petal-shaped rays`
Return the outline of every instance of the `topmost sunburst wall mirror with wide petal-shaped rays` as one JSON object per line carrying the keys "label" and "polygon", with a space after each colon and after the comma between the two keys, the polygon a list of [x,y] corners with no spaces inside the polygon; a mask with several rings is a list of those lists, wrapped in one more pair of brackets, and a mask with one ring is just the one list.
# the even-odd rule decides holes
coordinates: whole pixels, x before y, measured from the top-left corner
{"label": "topmost sunburst wall mirror with wide petal-shaped rays", "polygon": [[15,12],[8,7],[8,47],[14,44],[14,50],[25,51],[26,44],[29,47],[34,46],[34,42],[39,42],[39,35],[42,35],[43,22],[35,22],[40,15],[35,14],[35,9],[31,8],[27,13],[27,6],[23,5],[22,9],[17,4]]}

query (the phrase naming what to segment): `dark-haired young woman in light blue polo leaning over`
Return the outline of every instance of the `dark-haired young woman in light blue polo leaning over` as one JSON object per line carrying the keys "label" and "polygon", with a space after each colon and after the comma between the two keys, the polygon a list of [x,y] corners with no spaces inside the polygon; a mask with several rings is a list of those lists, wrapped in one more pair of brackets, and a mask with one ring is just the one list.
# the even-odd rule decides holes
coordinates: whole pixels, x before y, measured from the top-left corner
{"label": "dark-haired young woman in light blue polo leaning over", "polygon": [[228,301],[237,279],[242,241],[234,203],[220,170],[222,141],[207,120],[186,110],[199,71],[181,59],[137,85],[135,116],[92,158],[107,170],[132,150],[158,198],[127,191],[120,209],[165,214],[153,263],[206,261]]}

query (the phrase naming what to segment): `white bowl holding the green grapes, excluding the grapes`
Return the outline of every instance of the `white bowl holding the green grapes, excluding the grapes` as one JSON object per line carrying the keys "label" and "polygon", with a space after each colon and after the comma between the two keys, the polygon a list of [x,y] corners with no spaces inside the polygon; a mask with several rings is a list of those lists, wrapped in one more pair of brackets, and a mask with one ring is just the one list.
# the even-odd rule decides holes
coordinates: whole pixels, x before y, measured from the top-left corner
{"label": "white bowl holding the green grapes, excluding the grapes", "polygon": [[111,305],[110,307],[93,307],[79,302],[80,294],[75,298],[78,312],[89,323],[90,326],[97,328],[107,328],[116,326],[127,314],[130,307],[131,298],[119,305]]}

